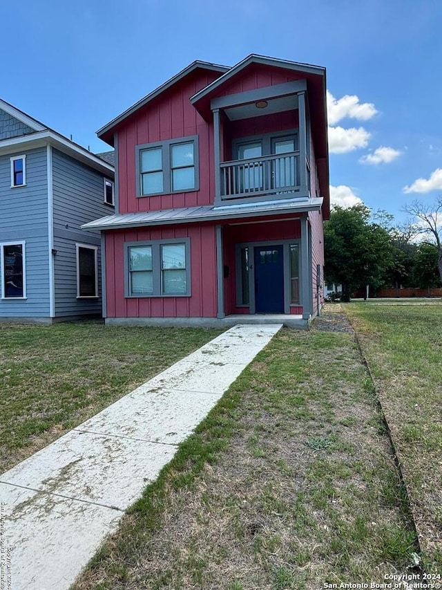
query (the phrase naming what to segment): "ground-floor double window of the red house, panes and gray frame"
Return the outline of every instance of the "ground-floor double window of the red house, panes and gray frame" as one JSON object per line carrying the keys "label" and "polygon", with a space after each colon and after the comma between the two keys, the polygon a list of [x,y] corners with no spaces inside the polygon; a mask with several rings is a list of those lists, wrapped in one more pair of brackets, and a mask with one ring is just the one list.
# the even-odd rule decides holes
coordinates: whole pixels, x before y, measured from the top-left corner
{"label": "ground-floor double window of the red house, panes and gray frame", "polygon": [[190,240],[125,244],[126,297],[189,296]]}

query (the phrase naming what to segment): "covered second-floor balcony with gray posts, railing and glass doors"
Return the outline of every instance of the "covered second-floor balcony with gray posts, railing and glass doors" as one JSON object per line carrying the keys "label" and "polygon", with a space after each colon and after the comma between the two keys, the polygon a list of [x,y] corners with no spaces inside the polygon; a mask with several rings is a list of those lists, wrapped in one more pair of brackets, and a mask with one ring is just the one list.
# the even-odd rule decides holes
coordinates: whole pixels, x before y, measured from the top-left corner
{"label": "covered second-floor balcony with gray posts, railing and glass doors", "polygon": [[300,80],[212,100],[215,203],[309,198],[306,90]]}

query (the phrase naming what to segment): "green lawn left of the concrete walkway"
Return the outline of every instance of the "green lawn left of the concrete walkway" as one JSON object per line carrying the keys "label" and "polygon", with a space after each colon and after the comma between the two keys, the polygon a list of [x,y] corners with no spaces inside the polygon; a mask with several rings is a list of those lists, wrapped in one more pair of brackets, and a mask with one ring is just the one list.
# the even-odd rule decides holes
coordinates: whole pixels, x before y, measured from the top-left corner
{"label": "green lawn left of the concrete walkway", "polygon": [[0,324],[0,472],[218,333],[98,322]]}

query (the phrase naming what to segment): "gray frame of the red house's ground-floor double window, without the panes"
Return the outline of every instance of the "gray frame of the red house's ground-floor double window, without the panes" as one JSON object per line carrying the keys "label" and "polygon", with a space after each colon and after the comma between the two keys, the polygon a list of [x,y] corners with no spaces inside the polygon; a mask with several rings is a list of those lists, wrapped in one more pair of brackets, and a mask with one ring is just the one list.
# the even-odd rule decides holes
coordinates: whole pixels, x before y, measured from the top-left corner
{"label": "gray frame of the red house's ground-floor double window, without the panes", "polygon": [[[176,246],[184,244],[184,256],[186,268],[186,293],[163,293],[163,268],[162,268],[162,246]],[[131,294],[131,279],[129,277],[129,250],[130,248],[148,247],[152,248],[152,272],[153,292]],[[124,296],[130,299],[141,299],[143,297],[191,297],[191,239],[171,238],[150,241],[131,241],[124,243]]]}

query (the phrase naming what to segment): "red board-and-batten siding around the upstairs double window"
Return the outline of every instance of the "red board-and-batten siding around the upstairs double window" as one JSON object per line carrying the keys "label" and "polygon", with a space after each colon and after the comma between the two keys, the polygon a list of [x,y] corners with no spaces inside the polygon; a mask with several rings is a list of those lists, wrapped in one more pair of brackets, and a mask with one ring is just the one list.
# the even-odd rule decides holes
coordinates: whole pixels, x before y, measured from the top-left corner
{"label": "red board-and-batten siding around the upstairs double window", "polygon": [[[208,124],[189,98],[217,75],[197,70],[124,121],[118,133],[119,213],[195,207],[213,203],[215,174],[213,124]],[[200,190],[172,195],[136,196],[135,147],[198,135]]]}

